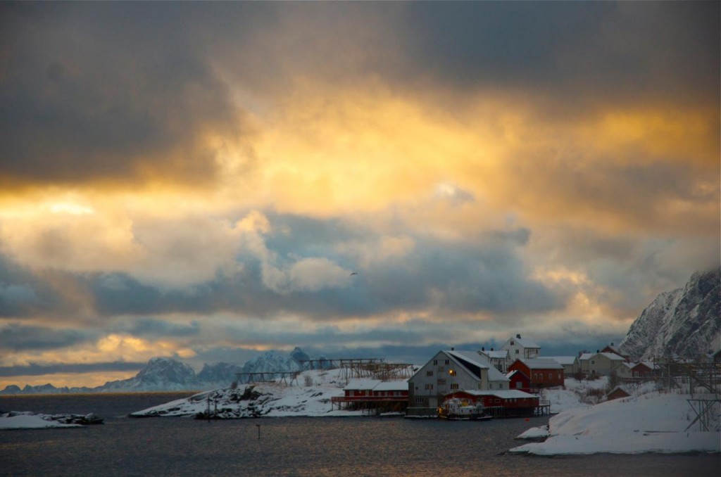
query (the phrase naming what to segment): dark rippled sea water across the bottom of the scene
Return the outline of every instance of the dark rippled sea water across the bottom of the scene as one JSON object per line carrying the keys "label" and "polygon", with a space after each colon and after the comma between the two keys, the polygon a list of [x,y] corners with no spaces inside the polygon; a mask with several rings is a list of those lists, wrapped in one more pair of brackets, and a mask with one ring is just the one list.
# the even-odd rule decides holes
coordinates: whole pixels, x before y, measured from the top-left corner
{"label": "dark rippled sea water across the bottom of the scene", "polygon": [[[105,424],[0,432],[12,476],[717,476],[719,455],[539,458],[505,452],[547,417],[446,422],[378,417],[132,419],[185,394],[3,396],[0,409],[94,412]],[[260,434],[260,438],[259,438]]]}

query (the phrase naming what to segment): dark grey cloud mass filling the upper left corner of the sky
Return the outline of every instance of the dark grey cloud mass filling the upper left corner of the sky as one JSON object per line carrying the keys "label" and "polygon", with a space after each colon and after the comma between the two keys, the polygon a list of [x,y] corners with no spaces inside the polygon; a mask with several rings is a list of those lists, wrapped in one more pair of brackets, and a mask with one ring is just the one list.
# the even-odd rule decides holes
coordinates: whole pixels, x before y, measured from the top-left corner
{"label": "dark grey cloud mass filling the upper left corner of the sky", "polygon": [[26,182],[213,174],[205,132],[243,133],[226,85],[150,4],[4,4],[1,178]]}

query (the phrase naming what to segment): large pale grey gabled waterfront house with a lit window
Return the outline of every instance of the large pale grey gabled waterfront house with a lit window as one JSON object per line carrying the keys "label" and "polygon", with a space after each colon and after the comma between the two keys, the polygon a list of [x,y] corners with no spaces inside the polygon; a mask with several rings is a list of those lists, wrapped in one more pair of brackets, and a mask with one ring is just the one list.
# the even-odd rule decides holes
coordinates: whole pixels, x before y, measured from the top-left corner
{"label": "large pale grey gabled waterfront house with a lit window", "polygon": [[508,378],[474,351],[440,351],[408,380],[409,415],[435,415],[453,391],[508,389]]}

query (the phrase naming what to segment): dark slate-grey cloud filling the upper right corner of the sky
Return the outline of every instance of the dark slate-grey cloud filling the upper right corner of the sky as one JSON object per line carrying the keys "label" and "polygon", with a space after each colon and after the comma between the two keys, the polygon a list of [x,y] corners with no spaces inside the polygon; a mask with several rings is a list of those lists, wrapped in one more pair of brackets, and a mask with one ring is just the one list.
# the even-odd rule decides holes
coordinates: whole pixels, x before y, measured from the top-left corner
{"label": "dark slate-grey cloud filling the upper right corner of the sky", "polygon": [[531,88],[547,107],[707,101],[719,18],[704,1],[413,2],[403,38],[416,73],[454,88]]}

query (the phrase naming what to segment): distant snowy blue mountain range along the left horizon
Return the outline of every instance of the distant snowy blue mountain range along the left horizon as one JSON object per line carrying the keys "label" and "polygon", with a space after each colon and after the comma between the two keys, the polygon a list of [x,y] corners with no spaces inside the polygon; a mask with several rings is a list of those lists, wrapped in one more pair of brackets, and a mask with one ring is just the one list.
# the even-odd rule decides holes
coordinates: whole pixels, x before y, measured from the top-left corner
{"label": "distant snowy blue mountain range along the left horizon", "polygon": [[[278,351],[267,351],[246,362],[242,367],[219,362],[216,365],[203,365],[200,373],[189,365],[171,358],[155,357],[133,378],[109,381],[95,388],[62,387],[52,384],[37,386],[17,385],[6,386],[0,394],[61,394],[61,393],[127,393],[144,391],[204,391],[226,388],[238,379],[236,373],[279,373],[301,369],[301,361],[311,357],[296,347],[292,352],[284,354]],[[319,360],[327,359],[319,357]]]}

